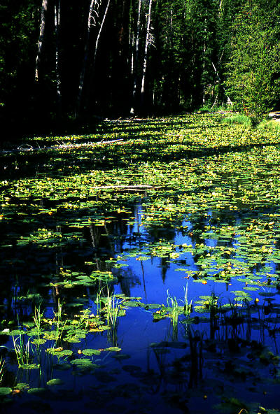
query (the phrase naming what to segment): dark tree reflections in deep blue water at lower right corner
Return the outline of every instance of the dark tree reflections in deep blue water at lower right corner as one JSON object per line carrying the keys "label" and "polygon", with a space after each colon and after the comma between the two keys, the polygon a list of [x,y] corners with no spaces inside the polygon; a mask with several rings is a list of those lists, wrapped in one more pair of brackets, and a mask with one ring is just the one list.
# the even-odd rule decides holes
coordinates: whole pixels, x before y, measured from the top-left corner
{"label": "dark tree reflections in deep blue water at lower right corner", "polygon": [[[267,306],[269,314],[265,315]],[[276,325],[272,315],[278,314],[278,308],[272,301],[263,306],[244,303],[241,308],[232,306],[230,310],[216,308],[215,313],[209,312],[207,323],[193,324],[189,320],[181,324],[183,341],[162,341],[151,345],[154,362],[151,356],[147,359],[149,370],[139,376],[141,382],[148,384],[149,378],[153,383],[151,393],[165,395],[166,401],[172,405],[176,395],[177,408],[183,401],[186,404],[184,412],[188,412],[188,403],[192,397],[197,397],[197,392],[202,396],[211,392],[217,402],[221,401],[227,389],[230,389],[230,397],[237,392],[240,394],[240,380],[248,401],[255,399],[252,383],[258,387],[268,378],[273,383],[275,378],[278,366],[278,357],[274,354],[277,352],[276,341],[274,352],[271,352],[271,343],[267,343],[267,348],[263,343],[262,330],[270,332],[274,341],[279,322]],[[214,318],[218,323],[214,323]],[[216,329],[213,329],[214,325]],[[258,339],[256,332],[260,333]],[[153,364],[157,369],[152,369]],[[209,408],[209,412],[213,411]]]}

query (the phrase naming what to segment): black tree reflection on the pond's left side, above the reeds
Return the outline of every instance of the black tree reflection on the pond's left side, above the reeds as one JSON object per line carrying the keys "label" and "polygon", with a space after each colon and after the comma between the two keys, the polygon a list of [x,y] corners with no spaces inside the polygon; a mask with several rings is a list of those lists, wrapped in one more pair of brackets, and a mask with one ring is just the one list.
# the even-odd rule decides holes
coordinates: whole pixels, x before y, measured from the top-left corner
{"label": "black tree reflection on the pond's left side, above the reeds", "polygon": [[[55,241],[56,245],[16,243],[20,236],[19,229],[22,229],[22,234],[29,236],[38,227],[43,227],[39,221],[37,224],[34,220],[21,226],[18,216],[13,222],[1,223],[1,228],[8,235],[8,238],[2,237],[3,249],[0,254],[3,285],[0,299],[4,304],[0,310],[2,319],[14,320],[16,315],[19,320],[25,320],[33,312],[34,306],[42,304],[42,308],[47,308],[50,304],[53,306],[58,298],[64,299],[66,303],[73,303],[75,297],[89,298],[92,290],[96,292],[100,289],[100,284],[90,289],[83,286],[65,289],[59,283],[65,280],[63,272],[67,269],[85,274],[94,270],[111,270],[111,264],[106,263],[106,260],[115,257],[122,249],[123,237],[127,232],[123,219],[128,217],[128,213],[116,213],[116,219],[110,214],[111,221],[105,221],[104,226],[91,224],[82,229],[56,226],[54,230],[61,235]],[[9,242],[11,245],[8,245]],[[85,261],[92,262],[92,265],[85,266]],[[67,277],[71,279],[71,274],[69,275]],[[52,290],[48,287],[50,282],[55,285]],[[132,274],[128,278],[120,278],[120,282],[125,294],[130,296],[130,283],[134,283]]]}

